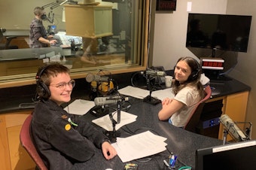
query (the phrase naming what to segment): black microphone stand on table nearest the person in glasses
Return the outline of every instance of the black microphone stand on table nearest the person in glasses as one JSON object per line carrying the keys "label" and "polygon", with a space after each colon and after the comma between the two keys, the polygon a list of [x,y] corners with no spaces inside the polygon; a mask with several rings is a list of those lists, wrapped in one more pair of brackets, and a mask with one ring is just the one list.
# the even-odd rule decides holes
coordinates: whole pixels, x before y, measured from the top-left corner
{"label": "black microphone stand on table nearest the person in glasses", "polygon": [[117,121],[114,120],[112,113],[109,113],[108,115],[112,123],[113,130],[112,131],[105,131],[105,135],[108,136],[111,143],[117,141],[117,137],[120,136],[120,132],[115,129],[116,124],[120,123],[120,111],[121,111],[121,100],[117,101]]}

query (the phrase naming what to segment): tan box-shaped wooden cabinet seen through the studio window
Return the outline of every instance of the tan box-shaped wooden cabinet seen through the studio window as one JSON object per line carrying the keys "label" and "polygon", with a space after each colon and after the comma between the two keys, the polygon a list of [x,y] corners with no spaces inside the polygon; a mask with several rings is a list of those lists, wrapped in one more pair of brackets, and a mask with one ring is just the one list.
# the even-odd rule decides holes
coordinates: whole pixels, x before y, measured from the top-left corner
{"label": "tan box-shaped wooden cabinet seen through the studio window", "polygon": [[113,35],[112,7],[101,5],[65,5],[66,34],[84,38]]}

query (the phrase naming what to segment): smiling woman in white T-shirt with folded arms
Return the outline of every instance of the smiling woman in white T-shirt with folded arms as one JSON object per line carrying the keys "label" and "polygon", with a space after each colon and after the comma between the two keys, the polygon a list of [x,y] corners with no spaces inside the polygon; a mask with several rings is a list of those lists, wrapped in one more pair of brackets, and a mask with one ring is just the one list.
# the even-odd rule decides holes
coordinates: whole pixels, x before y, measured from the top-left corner
{"label": "smiling woman in white T-shirt with folded arms", "polygon": [[174,126],[184,127],[194,107],[205,96],[200,81],[200,64],[192,57],[181,57],[175,65],[174,76],[172,93],[175,97],[163,99],[158,118],[169,120]]}

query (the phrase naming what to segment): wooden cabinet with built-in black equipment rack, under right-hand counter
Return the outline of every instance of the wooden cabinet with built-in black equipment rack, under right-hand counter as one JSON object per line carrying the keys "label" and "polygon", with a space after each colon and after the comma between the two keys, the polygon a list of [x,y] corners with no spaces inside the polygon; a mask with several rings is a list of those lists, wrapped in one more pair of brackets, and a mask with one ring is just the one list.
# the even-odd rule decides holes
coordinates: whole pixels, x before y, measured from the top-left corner
{"label": "wooden cabinet with built-in black equipment rack, under right-hand counter", "polygon": [[[200,124],[197,127],[197,133],[222,140],[224,126],[220,122],[219,117],[221,117],[221,114],[227,114],[234,122],[244,122],[248,93],[248,91],[234,93],[206,101],[200,117]],[[244,129],[242,123],[239,124],[239,127]],[[233,138],[228,135],[227,141],[232,140]]]}

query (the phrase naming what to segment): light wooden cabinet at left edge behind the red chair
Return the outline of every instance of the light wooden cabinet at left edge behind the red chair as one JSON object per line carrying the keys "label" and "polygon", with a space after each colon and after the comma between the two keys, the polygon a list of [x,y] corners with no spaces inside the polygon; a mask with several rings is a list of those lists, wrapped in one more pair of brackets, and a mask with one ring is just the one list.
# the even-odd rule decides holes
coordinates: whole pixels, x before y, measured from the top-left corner
{"label": "light wooden cabinet at left edge behind the red chair", "polygon": [[0,114],[0,165],[2,169],[35,169],[35,162],[20,144],[21,126],[31,112]]}

